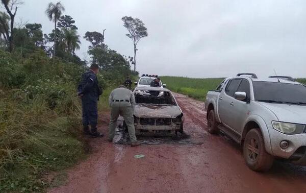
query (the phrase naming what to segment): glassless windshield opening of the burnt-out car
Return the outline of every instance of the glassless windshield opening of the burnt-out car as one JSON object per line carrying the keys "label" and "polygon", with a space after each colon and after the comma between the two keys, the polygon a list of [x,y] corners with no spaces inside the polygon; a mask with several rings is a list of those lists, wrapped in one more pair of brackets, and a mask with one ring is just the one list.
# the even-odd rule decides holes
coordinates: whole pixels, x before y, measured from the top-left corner
{"label": "glassless windshield opening of the burnt-out car", "polygon": [[135,91],[136,104],[175,105],[172,94],[168,91],[137,90]]}

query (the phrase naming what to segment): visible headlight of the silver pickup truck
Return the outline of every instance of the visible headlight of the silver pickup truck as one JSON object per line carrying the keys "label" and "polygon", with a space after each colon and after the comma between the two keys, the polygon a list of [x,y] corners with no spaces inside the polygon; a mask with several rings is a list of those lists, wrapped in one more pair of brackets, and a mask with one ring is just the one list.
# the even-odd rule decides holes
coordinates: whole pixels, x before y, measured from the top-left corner
{"label": "visible headlight of the silver pickup truck", "polygon": [[288,135],[302,133],[305,127],[305,125],[301,125],[301,124],[275,122],[275,121],[272,121],[272,126],[275,130],[288,134]]}

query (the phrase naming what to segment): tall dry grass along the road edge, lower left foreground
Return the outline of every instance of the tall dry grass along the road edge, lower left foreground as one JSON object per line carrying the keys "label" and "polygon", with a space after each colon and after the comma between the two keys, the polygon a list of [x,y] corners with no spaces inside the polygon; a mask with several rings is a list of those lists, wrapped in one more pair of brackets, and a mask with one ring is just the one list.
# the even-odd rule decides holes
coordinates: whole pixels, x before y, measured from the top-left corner
{"label": "tall dry grass along the road edge, lower left foreground", "polygon": [[43,96],[21,98],[18,92],[0,95],[0,192],[40,191],[48,185],[40,178],[45,170],[60,170],[84,156],[74,96],[50,109]]}

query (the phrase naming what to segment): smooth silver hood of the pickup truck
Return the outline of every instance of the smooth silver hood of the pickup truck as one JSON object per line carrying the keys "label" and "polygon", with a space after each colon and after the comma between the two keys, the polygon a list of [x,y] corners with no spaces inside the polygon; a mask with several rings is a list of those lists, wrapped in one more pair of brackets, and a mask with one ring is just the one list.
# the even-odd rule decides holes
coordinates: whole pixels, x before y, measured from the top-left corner
{"label": "smooth silver hood of the pickup truck", "polygon": [[306,124],[306,106],[259,102],[270,109],[280,122]]}

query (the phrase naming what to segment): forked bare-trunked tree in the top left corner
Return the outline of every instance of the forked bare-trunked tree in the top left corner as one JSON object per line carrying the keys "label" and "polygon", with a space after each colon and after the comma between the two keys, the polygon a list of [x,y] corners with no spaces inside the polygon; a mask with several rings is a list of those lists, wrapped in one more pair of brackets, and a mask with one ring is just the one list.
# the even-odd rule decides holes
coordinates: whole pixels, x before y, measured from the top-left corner
{"label": "forked bare-trunked tree in the top left corner", "polygon": [[10,52],[13,52],[13,41],[14,41],[14,21],[15,16],[17,13],[18,6],[21,5],[23,2],[20,0],[1,0],[2,4],[4,5],[5,10],[10,16],[10,28],[9,32],[6,34],[6,38],[8,41],[8,48]]}

